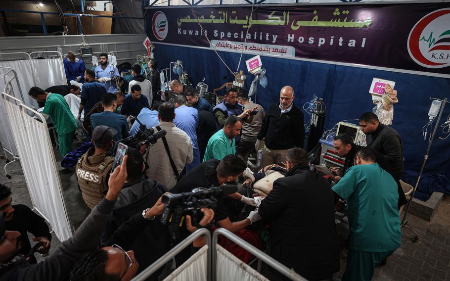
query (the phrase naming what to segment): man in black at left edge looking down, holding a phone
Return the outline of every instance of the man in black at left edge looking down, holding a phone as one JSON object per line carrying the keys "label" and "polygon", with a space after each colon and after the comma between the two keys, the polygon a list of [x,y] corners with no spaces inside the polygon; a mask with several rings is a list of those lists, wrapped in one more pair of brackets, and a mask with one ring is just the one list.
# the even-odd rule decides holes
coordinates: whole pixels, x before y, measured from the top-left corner
{"label": "man in black at left edge looking down, holding a phone", "polygon": [[[33,234],[33,241],[44,242],[44,248],[39,251],[41,254],[50,250],[51,234],[45,220],[33,212],[25,205],[12,205],[11,189],[0,184],[0,212],[5,213],[4,222],[6,230],[18,231],[22,248],[19,254],[26,255],[31,250],[27,232]],[[36,258],[32,255],[29,259],[32,264],[36,263]]]}

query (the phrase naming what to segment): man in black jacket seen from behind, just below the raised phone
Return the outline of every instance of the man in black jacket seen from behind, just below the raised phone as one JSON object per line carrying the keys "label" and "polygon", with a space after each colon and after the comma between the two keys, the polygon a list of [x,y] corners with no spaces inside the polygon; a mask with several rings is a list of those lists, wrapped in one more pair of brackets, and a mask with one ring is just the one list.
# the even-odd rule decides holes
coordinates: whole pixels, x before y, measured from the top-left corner
{"label": "man in black jacket seen from behind, just below the raised phone", "polygon": [[[145,166],[139,151],[129,148],[127,155],[127,180],[106,223],[101,237],[102,246],[108,245],[107,241],[122,224],[136,213],[155,204],[167,191],[162,184],[142,175]],[[145,228],[140,232],[128,248],[134,251],[140,268],[145,269],[170,249],[170,242],[167,227],[158,221],[151,228]],[[148,251],[149,248],[152,250]],[[153,276],[157,277],[161,271],[157,271]]]}

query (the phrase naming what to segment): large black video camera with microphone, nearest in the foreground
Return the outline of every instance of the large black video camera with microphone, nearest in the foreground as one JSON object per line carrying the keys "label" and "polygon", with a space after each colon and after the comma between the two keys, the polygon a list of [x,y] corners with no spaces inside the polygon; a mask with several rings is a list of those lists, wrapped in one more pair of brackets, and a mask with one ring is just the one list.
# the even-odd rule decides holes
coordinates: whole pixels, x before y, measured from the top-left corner
{"label": "large black video camera with microphone, nearest in the foreground", "polygon": [[217,207],[218,195],[228,195],[237,191],[237,186],[197,187],[190,192],[164,194],[162,202],[165,205],[161,216],[161,223],[169,225],[169,232],[173,239],[179,238],[179,228],[183,224],[184,216],[191,216],[192,226],[201,228],[198,223],[203,218],[201,208]]}

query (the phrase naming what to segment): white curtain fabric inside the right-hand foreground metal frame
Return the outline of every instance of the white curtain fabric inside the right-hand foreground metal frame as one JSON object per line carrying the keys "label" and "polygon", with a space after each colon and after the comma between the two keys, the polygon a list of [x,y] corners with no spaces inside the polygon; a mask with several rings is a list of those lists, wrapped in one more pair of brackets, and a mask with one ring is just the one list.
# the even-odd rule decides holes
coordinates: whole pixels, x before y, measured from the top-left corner
{"label": "white curtain fabric inside the right-hand foreground metal frame", "polygon": [[[217,245],[217,281],[269,281],[259,272]],[[213,272],[213,274],[215,274]]]}

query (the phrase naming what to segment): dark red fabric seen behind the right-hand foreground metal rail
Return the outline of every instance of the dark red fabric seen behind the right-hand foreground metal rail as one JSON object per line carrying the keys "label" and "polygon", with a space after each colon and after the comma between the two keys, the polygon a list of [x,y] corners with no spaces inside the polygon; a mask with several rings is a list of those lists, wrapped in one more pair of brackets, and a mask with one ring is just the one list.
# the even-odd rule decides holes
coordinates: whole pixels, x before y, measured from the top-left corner
{"label": "dark red fabric seen behind the right-hand foreground metal rail", "polygon": [[[214,228],[215,230],[215,228]],[[213,231],[214,231],[213,230]],[[235,233],[239,238],[245,240],[246,242],[250,243],[252,246],[258,248],[261,250],[261,237],[257,232],[249,231],[246,229],[240,230]],[[253,255],[246,250],[242,249],[240,246],[238,246],[236,243],[231,241],[230,239],[226,238],[223,235],[219,236],[219,245],[225,248],[228,252],[235,255],[237,258],[239,258],[244,263],[249,263],[253,259]]]}

